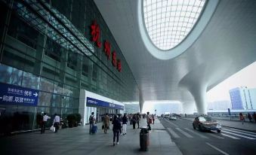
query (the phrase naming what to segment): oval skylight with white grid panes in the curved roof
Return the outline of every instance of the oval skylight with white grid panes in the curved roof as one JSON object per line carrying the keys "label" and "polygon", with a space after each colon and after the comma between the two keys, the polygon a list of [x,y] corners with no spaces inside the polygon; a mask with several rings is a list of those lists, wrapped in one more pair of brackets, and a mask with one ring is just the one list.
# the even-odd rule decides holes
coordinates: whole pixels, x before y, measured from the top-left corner
{"label": "oval skylight with white grid panes in the curved roof", "polygon": [[143,0],[143,19],[150,40],[160,50],[180,44],[195,26],[205,0]]}

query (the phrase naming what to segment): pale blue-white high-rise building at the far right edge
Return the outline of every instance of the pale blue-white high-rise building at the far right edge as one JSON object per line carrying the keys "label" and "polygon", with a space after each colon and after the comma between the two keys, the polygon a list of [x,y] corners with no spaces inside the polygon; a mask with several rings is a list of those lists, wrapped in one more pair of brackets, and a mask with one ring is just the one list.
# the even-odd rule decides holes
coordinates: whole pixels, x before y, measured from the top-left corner
{"label": "pale blue-white high-rise building at the far right edge", "polygon": [[256,89],[236,87],[230,90],[232,109],[256,109]]}

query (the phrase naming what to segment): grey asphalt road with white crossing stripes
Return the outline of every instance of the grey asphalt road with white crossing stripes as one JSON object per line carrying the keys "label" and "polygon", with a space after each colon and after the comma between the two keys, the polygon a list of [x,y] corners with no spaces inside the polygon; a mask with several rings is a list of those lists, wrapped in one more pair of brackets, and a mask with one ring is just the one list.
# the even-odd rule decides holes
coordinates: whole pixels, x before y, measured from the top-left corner
{"label": "grey asphalt road with white crossing stripes", "polygon": [[171,140],[187,154],[256,154],[256,132],[222,127],[221,133],[193,129],[192,120],[160,120]]}

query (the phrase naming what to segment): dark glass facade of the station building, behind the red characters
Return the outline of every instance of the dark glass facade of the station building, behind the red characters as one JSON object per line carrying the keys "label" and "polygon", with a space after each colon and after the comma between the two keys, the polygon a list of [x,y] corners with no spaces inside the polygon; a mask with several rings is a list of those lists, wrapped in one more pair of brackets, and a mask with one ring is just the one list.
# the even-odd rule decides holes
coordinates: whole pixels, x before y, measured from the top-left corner
{"label": "dark glass facade of the station building, behind the red characters", "polygon": [[[39,90],[36,107],[0,104],[1,121],[9,122],[1,132],[37,129],[42,111],[61,117],[78,113],[81,89],[120,102],[138,100],[133,74],[92,0],[0,3],[0,82]],[[122,71],[91,41],[94,20],[101,43],[109,41]]]}

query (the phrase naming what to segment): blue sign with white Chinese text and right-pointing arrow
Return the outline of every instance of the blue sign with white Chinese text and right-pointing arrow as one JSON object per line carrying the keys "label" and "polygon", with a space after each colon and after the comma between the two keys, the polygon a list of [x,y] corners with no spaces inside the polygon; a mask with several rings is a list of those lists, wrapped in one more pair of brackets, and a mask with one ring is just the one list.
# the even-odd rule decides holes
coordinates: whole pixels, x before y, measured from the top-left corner
{"label": "blue sign with white Chinese text and right-pointing arrow", "polygon": [[0,83],[0,104],[36,106],[39,90]]}

